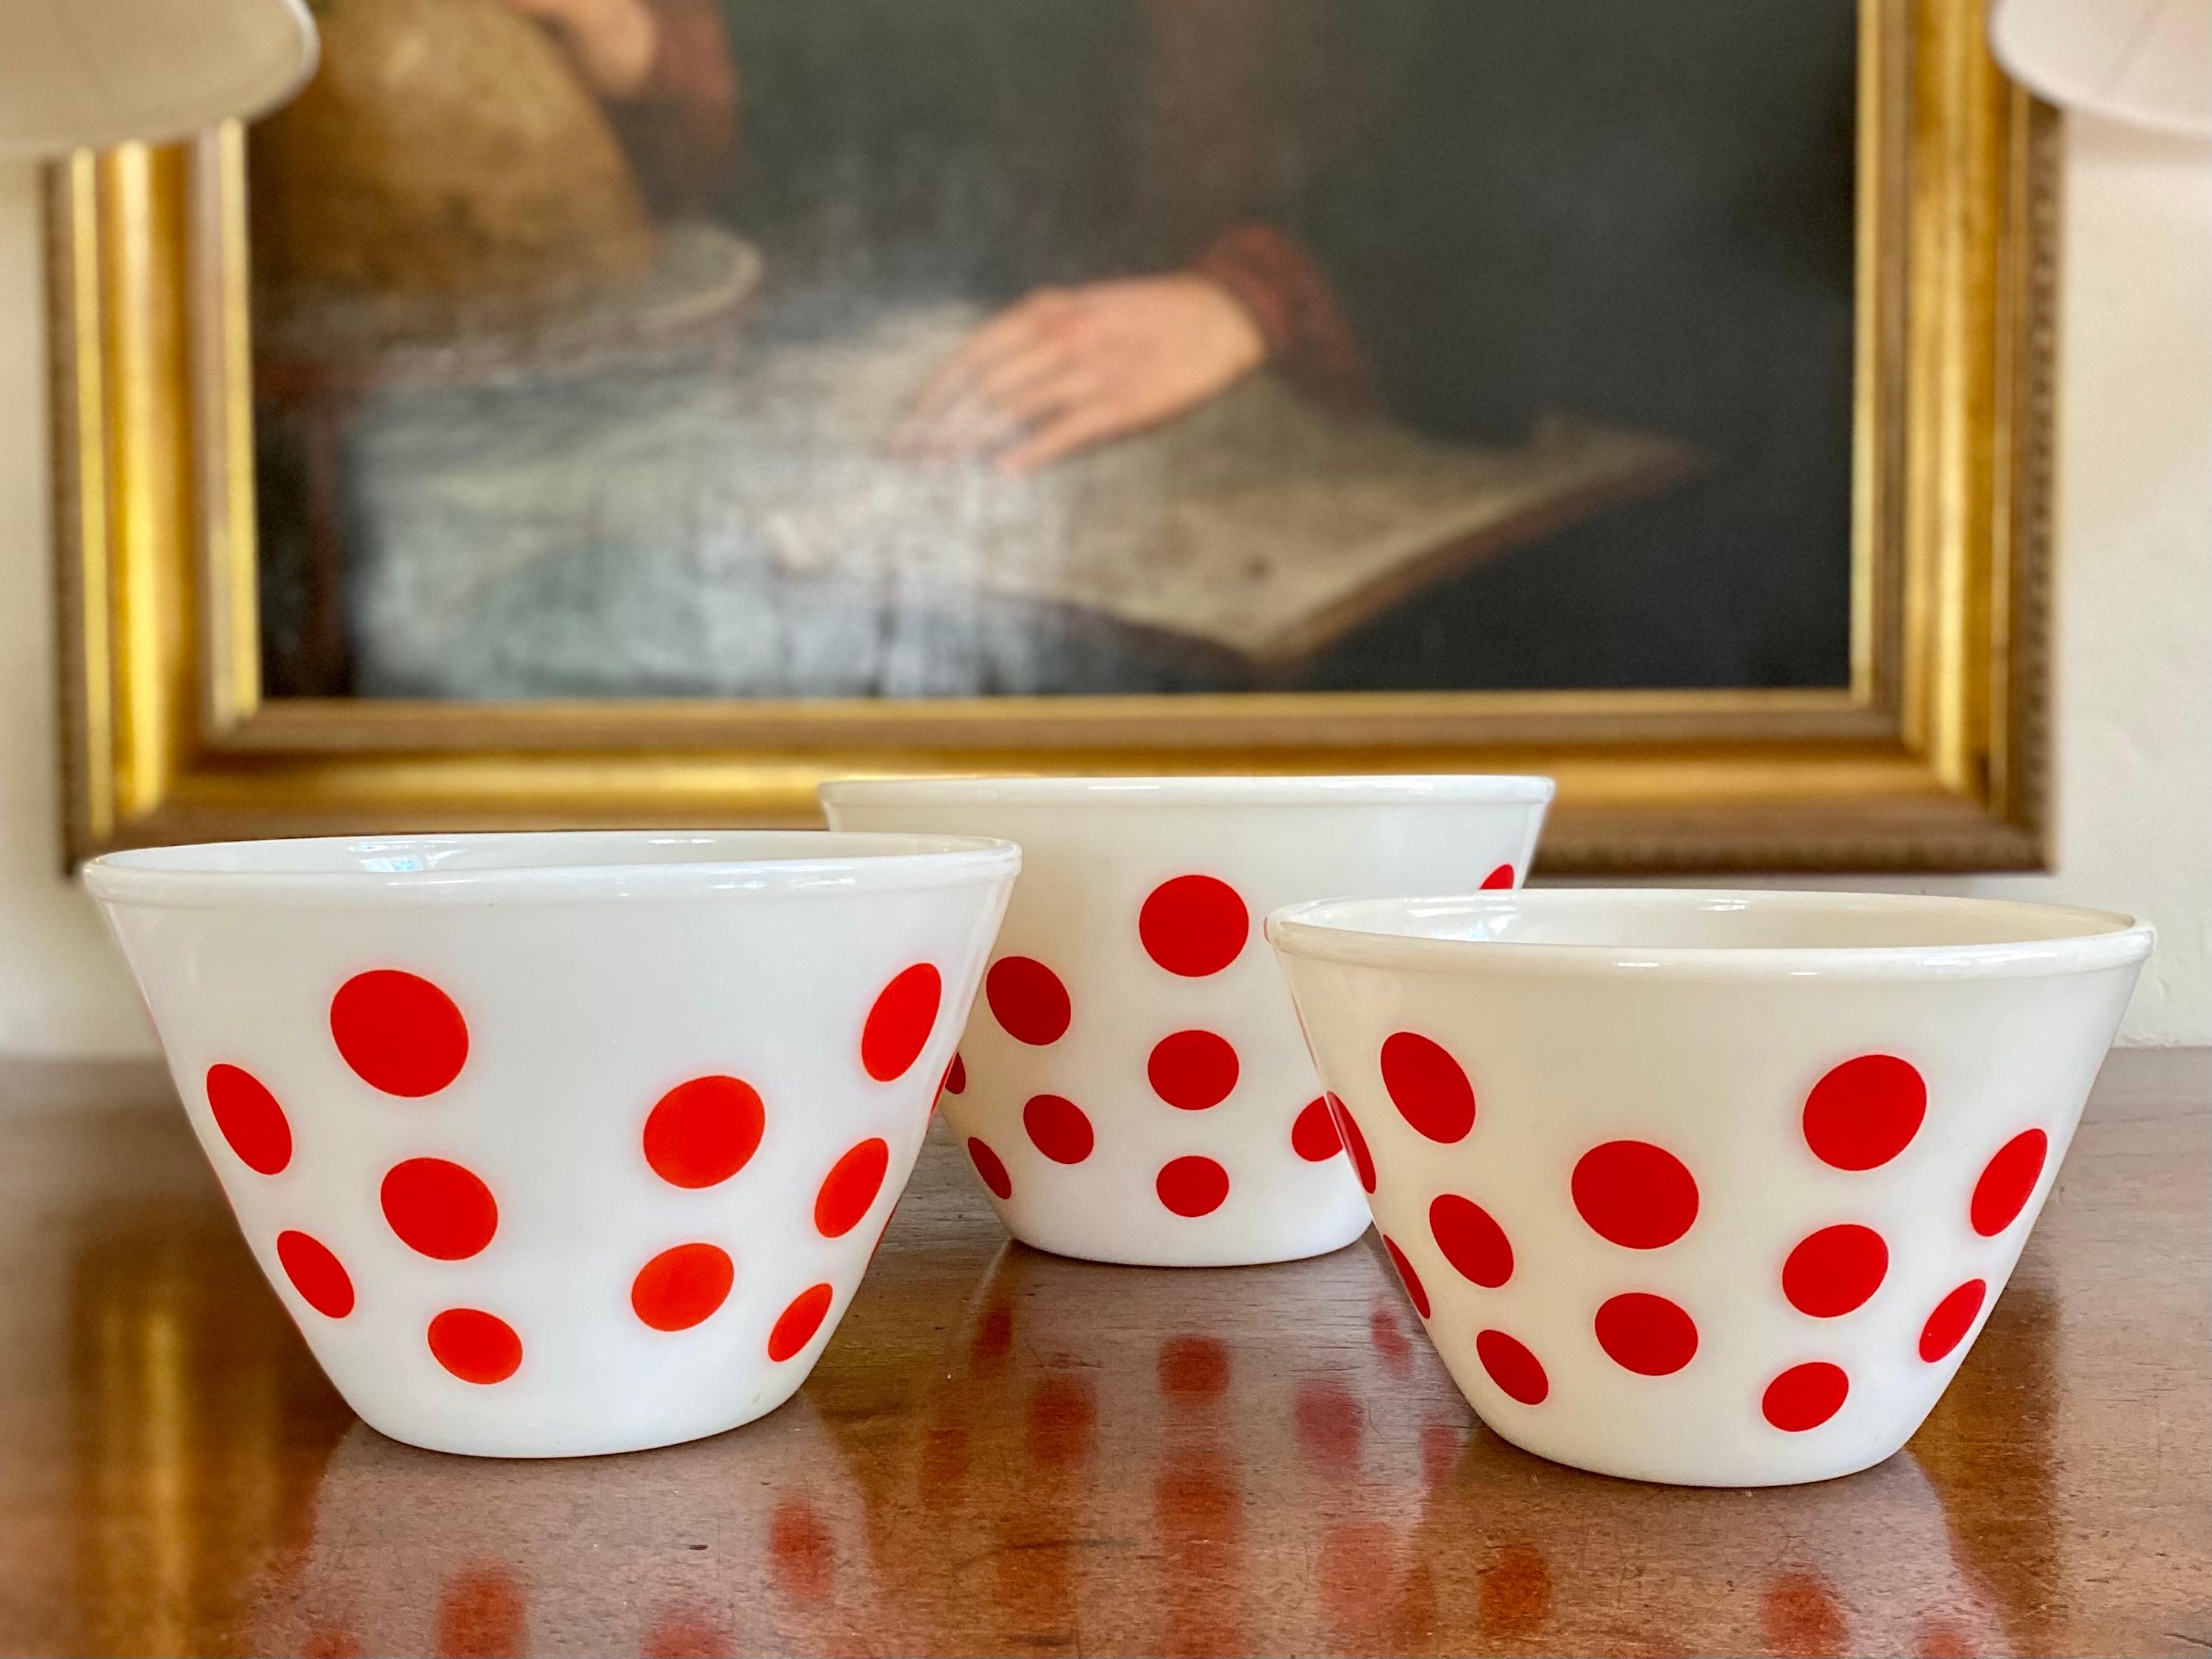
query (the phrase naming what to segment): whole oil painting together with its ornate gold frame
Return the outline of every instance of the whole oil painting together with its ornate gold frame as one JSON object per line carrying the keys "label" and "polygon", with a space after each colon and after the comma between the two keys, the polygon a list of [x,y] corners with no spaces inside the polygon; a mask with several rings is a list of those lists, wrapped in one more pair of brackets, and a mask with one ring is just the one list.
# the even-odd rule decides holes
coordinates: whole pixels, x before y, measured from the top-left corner
{"label": "whole oil painting together with its ornate gold frame", "polygon": [[2044,856],[2051,111],[1978,0],[319,0],[53,170],[69,849],[1535,770]]}

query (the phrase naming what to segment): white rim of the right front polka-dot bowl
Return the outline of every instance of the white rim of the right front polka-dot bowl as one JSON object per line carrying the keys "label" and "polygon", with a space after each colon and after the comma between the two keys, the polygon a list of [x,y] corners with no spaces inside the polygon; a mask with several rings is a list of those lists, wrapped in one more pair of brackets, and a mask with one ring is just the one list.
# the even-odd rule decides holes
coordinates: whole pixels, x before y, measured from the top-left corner
{"label": "white rim of the right front polka-dot bowl", "polygon": [[[1418,911],[1498,914],[1515,907],[1593,911],[1635,900],[1657,907],[1796,911],[1984,911],[2070,931],[1969,945],[1632,945],[1429,938],[1376,922]],[[1283,905],[1265,922],[1283,958],[1422,973],[1601,973],[1659,978],[2037,978],[2139,964],[2150,956],[2148,922],[2106,909],[2035,905],[1953,894],[1823,891],[1794,887],[1520,887],[1436,898],[1314,898]]]}

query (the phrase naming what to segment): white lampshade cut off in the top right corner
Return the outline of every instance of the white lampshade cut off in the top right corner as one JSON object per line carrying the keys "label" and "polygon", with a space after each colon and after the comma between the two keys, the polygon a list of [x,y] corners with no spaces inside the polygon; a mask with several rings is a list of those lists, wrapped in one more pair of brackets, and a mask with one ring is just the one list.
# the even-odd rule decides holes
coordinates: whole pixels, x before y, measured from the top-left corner
{"label": "white lampshade cut off in the top right corner", "polygon": [[1997,0],[1989,44],[2053,104],[2212,137],[2212,0]]}

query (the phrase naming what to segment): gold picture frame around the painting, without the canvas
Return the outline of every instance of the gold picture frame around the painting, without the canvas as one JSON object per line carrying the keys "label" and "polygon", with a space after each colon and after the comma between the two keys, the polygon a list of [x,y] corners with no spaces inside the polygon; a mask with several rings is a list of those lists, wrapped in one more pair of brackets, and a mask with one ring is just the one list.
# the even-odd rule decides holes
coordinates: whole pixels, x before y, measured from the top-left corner
{"label": "gold picture frame around the painting, without the canvas", "polygon": [[66,849],[814,821],[867,772],[1548,772],[1546,874],[2044,865],[2057,117],[1863,0],[1851,684],[958,701],[261,697],[243,135],[51,173]]}

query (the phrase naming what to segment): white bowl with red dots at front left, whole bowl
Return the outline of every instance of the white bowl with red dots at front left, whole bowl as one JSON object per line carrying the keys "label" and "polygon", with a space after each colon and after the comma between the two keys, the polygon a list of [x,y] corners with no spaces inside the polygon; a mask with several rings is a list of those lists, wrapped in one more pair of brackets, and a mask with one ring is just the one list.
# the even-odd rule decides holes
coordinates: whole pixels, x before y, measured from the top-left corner
{"label": "white bowl with red dots at front left, whole bowl", "polygon": [[544,1458],[805,1380],[1018,869],[969,838],[580,832],[124,852],[86,885],[345,1400]]}

